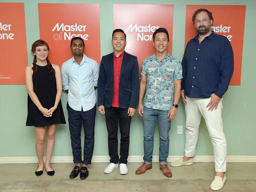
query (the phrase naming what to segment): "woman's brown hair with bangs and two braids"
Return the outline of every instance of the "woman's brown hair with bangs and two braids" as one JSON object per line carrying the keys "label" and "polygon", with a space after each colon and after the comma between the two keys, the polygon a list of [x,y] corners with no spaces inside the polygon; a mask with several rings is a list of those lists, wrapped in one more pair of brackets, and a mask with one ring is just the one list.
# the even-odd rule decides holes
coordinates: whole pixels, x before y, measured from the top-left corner
{"label": "woman's brown hair with bangs and two braids", "polygon": [[[35,55],[35,48],[38,47],[38,46],[43,46],[43,45],[45,45],[47,47],[48,51],[50,50],[49,45],[41,39],[35,41],[32,45],[32,48],[31,48],[31,54],[34,56],[33,67],[32,67],[34,74],[37,73],[37,65],[36,65],[37,56]],[[47,61],[47,64],[48,64],[48,69],[49,69],[50,74],[55,74],[55,70],[53,69],[52,64],[50,63],[50,61],[48,59],[48,56],[46,57],[46,61]]]}

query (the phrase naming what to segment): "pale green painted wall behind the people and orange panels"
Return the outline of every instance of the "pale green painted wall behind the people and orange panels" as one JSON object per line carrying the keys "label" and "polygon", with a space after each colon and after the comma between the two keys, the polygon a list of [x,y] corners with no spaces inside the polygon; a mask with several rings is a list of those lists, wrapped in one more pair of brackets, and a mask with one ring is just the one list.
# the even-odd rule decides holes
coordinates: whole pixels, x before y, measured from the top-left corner
{"label": "pale green painted wall behind the people and orange panels", "polygon": [[[23,0],[0,1],[22,2],[25,5],[26,34],[28,61],[32,63],[30,54],[31,44],[39,39],[38,7],[37,3],[99,3],[101,23],[101,56],[112,52],[111,34],[113,30],[113,4],[127,3],[125,0]],[[173,4],[173,56],[182,59],[184,53],[185,36],[185,6],[186,4],[212,4],[215,5],[246,5],[244,47],[242,59],[241,86],[230,86],[224,95],[223,124],[228,144],[228,155],[256,155],[255,147],[255,117],[256,117],[256,87],[253,76],[256,71],[255,54],[255,0],[130,0],[130,4]],[[14,14],[14,13],[10,13]],[[74,11],[74,14],[78,14]],[[154,13],[153,13],[154,14]],[[1,19],[1,18],[0,18]],[[68,45],[67,45],[68,46]],[[15,48],[13,48],[15,57]],[[19,62],[17,58],[17,62]],[[23,71],[21,71],[23,73]],[[35,154],[35,133],[33,127],[26,127],[27,116],[27,90],[25,85],[0,85],[0,157],[26,157]],[[66,120],[68,120],[67,94],[61,97]],[[177,135],[177,125],[185,127],[185,114],[182,102],[177,111],[177,117],[171,123],[170,153],[169,155],[183,155],[185,134]],[[184,130],[183,130],[184,132]],[[83,137],[83,134],[82,134]],[[120,138],[120,135],[119,135]],[[159,134],[155,132],[154,155],[158,155]],[[130,155],[143,155],[143,126],[142,118],[135,114],[131,123]],[[68,124],[57,125],[56,142],[53,156],[71,156],[71,142]],[[108,155],[107,131],[105,117],[99,112],[96,114],[94,155]],[[204,120],[199,132],[196,155],[213,155],[210,137]]]}

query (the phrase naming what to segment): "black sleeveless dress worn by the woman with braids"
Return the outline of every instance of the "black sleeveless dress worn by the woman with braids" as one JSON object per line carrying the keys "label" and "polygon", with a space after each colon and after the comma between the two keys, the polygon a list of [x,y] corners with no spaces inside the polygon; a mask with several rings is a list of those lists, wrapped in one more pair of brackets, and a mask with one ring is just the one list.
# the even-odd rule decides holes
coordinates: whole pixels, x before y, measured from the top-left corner
{"label": "black sleeveless dress worn by the woman with braids", "polygon": [[[33,74],[33,88],[41,105],[50,109],[54,106],[57,86],[55,74],[50,74],[48,65],[37,65],[37,73]],[[45,127],[53,124],[65,124],[65,117],[61,105],[61,101],[57,109],[53,112],[52,117],[44,117],[42,112],[37,108],[27,94],[27,122],[26,126]]]}

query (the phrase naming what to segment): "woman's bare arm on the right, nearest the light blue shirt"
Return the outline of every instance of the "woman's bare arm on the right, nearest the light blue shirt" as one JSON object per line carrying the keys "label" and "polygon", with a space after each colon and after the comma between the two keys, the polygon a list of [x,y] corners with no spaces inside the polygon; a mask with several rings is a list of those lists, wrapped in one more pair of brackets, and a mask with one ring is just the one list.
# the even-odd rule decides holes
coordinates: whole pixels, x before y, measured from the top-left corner
{"label": "woman's bare arm on the right, nearest the light blue shirt", "polygon": [[52,114],[57,109],[57,107],[59,105],[59,102],[60,102],[61,92],[62,92],[60,67],[58,65],[54,65],[54,64],[52,64],[52,67],[55,70],[57,93],[56,93],[54,106],[52,108],[50,108],[49,111],[48,111],[50,114]]}

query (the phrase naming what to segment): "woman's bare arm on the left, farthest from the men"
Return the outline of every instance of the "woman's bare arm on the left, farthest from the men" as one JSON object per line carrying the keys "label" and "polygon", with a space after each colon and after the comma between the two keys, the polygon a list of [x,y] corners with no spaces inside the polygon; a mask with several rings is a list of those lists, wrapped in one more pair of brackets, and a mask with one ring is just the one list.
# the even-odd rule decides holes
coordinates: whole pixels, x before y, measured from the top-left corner
{"label": "woman's bare arm on the left, farthest from the men", "polygon": [[32,65],[27,65],[26,68],[25,68],[25,81],[26,81],[27,93],[29,94],[33,103],[35,103],[37,108],[42,112],[42,114],[45,117],[49,117],[50,113],[47,113],[48,109],[44,108],[41,105],[37,95],[34,92],[32,76],[33,76]]}

